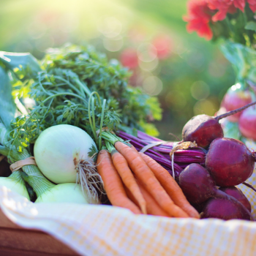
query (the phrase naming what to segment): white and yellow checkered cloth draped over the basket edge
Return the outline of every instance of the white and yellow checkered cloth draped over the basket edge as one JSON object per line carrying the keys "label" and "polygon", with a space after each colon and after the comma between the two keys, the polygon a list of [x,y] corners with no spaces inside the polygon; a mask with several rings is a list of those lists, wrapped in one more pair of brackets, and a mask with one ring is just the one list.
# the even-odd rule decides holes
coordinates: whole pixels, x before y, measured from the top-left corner
{"label": "white and yellow checkered cloth draped over the basket edge", "polygon": [[[256,171],[248,182],[256,187]],[[238,187],[256,217],[256,192]],[[80,255],[256,255],[256,222],[152,217],[112,206],[34,204],[6,187],[0,187],[0,207],[13,222],[43,230]]]}

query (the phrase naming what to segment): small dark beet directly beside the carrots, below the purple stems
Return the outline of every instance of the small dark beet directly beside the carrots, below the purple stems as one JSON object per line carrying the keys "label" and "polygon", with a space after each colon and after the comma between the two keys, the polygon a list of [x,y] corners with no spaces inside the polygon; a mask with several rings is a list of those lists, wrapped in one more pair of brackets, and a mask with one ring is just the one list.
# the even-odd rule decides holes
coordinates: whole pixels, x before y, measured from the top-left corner
{"label": "small dark beet directly beside the carrots, below the purple stems", "polygon": [[216,194],[215,181],[201,165],[191,164],[182,170],[178,184],[189,203],[200,205]]}

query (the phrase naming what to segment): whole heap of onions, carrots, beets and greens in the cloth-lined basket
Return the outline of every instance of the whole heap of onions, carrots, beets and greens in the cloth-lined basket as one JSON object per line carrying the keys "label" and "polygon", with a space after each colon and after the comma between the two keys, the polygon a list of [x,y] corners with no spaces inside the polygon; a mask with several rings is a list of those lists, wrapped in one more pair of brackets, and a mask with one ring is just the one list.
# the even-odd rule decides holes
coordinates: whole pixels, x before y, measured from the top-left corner
{"label": "whole heap of onions, carrots, beets and greens in the cloth-lined basket", "polygon": [[238,110],[196,116],[183,141],[167,143],[147,134],[156,131],[148,120],[161,118],[157,99],[130,88],[127,69],[91,47],[50,49],[42,61],[0,52],[0,71],[0,154],[12,163],[2,184],[10,189],[35,203],[252,219],[233,186],[252,175],[255,152],[223,138],[219,124]]}

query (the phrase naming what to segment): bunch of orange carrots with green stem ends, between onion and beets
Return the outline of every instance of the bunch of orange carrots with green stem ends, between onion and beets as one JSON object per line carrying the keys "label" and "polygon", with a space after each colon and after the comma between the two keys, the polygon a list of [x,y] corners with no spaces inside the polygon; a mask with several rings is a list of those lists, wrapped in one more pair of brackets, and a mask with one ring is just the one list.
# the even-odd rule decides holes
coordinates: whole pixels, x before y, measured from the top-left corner
{"label": "bunch of orange carrots with green stem ends, between onion and beets", "polygon": [[97,169],[113,206],[135,214],[199,218],[164,167],[110,132],[102,132],[102,138]]}

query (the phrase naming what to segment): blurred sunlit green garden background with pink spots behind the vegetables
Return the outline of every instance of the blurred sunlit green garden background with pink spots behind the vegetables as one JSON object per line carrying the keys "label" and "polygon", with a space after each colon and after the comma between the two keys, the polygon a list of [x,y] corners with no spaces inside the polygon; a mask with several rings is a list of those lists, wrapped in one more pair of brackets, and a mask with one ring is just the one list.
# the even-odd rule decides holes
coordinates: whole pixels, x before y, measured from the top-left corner
{"label": "blurred sunlit green garden background with pink spots behind the vegetables", "polygon": [[195,114],[214,115],[235,82],[219,42],[188,34],[180,0],[0,0],[0,50],[30,52],[92,44],[132,70],[132,86],[159,97],[159,138],[181,138]]}

